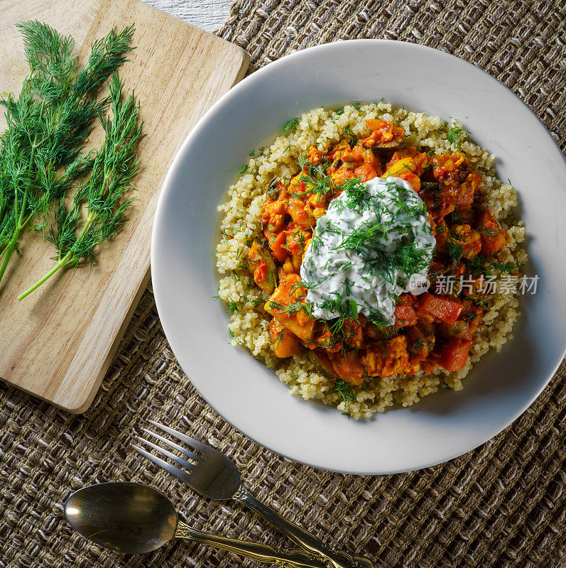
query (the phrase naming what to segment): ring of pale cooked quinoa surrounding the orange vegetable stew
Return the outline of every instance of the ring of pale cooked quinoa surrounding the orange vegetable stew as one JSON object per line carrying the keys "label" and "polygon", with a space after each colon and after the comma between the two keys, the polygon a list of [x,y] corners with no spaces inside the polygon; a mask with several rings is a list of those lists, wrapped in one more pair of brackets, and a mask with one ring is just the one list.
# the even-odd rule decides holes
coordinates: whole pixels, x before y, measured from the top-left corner
{"label": "ring of pale cooked quinoa surrounding the orange vegetable stew", "polygon": [[[268,148],[254,151],[247,168],[229,187],[226,202],[219,206],[223,216],[222,237],[216,249],[217,268],[221,275],[219,298],[227,302],[232,312],[229,322],[232,344],[244,346],[273,369],[292,395],[302,396],[305,400],[322,400],[356,420],[371,418],[395,403],[413,405],[439,388],[461,390],[462,380],[472,365],[489,349],[500,351],[512,338],[513,324],[519,315],[515,296],[501,293],[486,295],[484,319],[474,334],[474,346],[464,368],[454,372],[437,368],[429,374],[418,371],[411,376],[375,377],[364,386],[348,385],[347,391],[337,391],[334,381],[306,352],[288,359],[275,356],[268,330],[268,315],[263,310],[267,295],[255,285],[242,263],[251,242],[261,234],[261,213],[268,185],[273,178],[288,182],[298,173],[298,157],[310,146],[326,151],[345,134],[353,133],[358,138],[368,136],[366,119],[391,121],[403,127],[408,145],[418,150],[462,153],[481,176],[480,192],[484,207],[507,231],[507,244],[501,251],[503,260],[518,266],[526,262],[526,252],[519,246],[526,237],[526,229],[513,217],[516,191],[509,183],[497,178],[495,156],[470,141],[465,132],[459,140],[447,136],[449,125],[438,116],[396,109],[384,102],[364,106],[348,104],[339,111],[321,107],[300,116],[285,135],[278,136]],[[452,126],[462,129],[457,121]]]}

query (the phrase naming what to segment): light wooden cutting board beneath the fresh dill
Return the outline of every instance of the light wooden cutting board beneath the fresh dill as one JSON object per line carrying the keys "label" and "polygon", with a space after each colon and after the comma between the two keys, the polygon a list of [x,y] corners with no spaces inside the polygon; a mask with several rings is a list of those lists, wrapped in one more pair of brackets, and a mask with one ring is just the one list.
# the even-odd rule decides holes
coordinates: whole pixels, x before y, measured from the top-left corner
{"label": "light wooden cutting board beneath the fresh dill", "polygon": [[92,269],[60,271],[17,302],[53,266],[53,246],[28,233],[0,283],[0,377],[82,413],[148,283],[153,213],[169,165],[200,116],[243,77],[248,58],[236,45],[136,0],[0,0],[0,14],[0,92],[18,93],[27,74],[19,21],[35,18],[70,33],[82,61],[112,27],[136,26],[136,50],[120,70],[141,103],[146,133],[129,220],[103,244]]}

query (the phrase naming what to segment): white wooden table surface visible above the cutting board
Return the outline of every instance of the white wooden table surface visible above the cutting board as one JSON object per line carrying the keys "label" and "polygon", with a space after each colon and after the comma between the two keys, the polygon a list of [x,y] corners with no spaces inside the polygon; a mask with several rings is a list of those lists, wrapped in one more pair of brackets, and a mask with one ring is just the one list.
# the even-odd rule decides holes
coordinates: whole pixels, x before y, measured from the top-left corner
{"label": "white wooden table surface visible above the cutting board", "polygon": [[146,4],[192,23],[205,31],[217,30],[226,18],[233,0],[143,0]]}

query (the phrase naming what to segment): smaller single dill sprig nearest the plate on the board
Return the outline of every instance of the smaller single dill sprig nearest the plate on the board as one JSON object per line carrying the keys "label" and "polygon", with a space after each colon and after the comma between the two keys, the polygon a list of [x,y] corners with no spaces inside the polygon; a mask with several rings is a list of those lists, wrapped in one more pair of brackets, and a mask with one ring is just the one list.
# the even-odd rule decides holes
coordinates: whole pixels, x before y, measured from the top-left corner
{"label": "smaller single dill sprig nearest the plate on the board", "polygon": [[[23,300],[61,268],[79,266],[85,259],[94,261],[94,249],[110,239],[120,229],[124,213],[132,200],[124,200],[124,192],[138,172],[138,143],[141,140],[142,121],[139,104],[134,95],[124,99],[122,83],[117,73],[109,81],[111,118],[100,116],[106,133],[102,148],[94,156],[92,171],[87,182],[75,192],[72,207],[63,201],[55,213],[55,226],[46,238],[58,249],[58,261],[43,278],[18,296]],[[85,214],[83,214],[83,211]]]}

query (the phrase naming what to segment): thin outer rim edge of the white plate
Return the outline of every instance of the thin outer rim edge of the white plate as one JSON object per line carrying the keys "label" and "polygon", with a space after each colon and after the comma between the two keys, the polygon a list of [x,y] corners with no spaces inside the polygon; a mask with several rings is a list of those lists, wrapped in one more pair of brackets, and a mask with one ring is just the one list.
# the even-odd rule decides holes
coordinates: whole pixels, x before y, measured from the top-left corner
{"label": "thin outer rim edge of the white plate", "polygon": [[[237,97],[238,94],[241,91],[244,91],[245,89],[249,89],[250,87],[253,87],[254,83],[261,82],[261,80],[263,80],[264,75],[269,75],[270,73],[276,72],[278,67],[281,67],[283,65],[288,65],[291,61],[293,62],[293,65],[298,65],[298,64],[300,64],[301,59],[309,58],[310,55],[312,55],[312,53],[318,53],[318,52],[325,51],[325,50],[332,50],[332,49],[337,48],[337,46],[344,45],[344,44],[347,44],[347,45],[369,45],[369,44],[372,44],[372,45],[392,45],[392,44],[395,44],[395,45],[399,45],[400,48],[409,48],[409,49],[413,49],[415,51],[428,51],[430,53],[434,53],[436,57],[452,60],[453,62],[457,63],[457,65],[467,66],[467,67],[469,67],[469,69],[472,73],[479,72],[479,73],[481,73],[481,75],[484,75],[484,77],[489,77],[489,81],[491,81],[491,83],[494,84],[494,86],[496,86],[496,88],[505,89],[507,94],[511,94],[518,102],[521,103],[521,105],[524,107],[524,109],[528,110],[530,115],[532,115],[538,121],[539,128],[542,129],[545,132],[546,136],[548,136],[548,138],[550,138],[551,141],[553,141],[557,151],[560,153],[560,155],[562,155],[562,151],[560,150],[560,146],[558,146],[558,144],[555,141],[555,139],[553,138],[553,136],[550,135],[550,132],[548,131],[546,126],[543,124],[543,121],[541,121],[539,119],[539,117],[533,112],[533,110],[530,109],[530,107],[528,107],[528,105],[525,102],[523,102],[523,100],[520,97],[518,97],[513,91],[511,91],[511,89],[509,89],[504,83],[500,82],[495,77],[490,75],[488,72],[482,70],[479,67],[476,67],[472,63],[467,62],[466,60],[463,60],[461,58],[458,58],[456,55],[452,55],[450,53],[446,53],[444,51],[437,50],[435,48],[430,48],[428,46],[420,45],[418,43],[410,43],[410,42],[397,41],[397,40],[381,40],[381,39],[371,39],[371,38],[369,38],[369,39],[356,39],[356,40],[337,40],[337,41],[334,41],[334,42],[331,42],[331,43],[324,43],[324,44],[321,44],[321,45],[312,46],[310,48],[305,48],[303,50],[298,50],[298,51],[295,51],[293,53],[289,53],[288,55],[284,55],[283,57],[281,57],[281,58],[279,58],[279,59],[277,59],[273,62],[268,63],[264,67],[261,67],[261,69],[258,69],[255,72],[251,73],[251,75],[244,77],[243,80],[241,80],[239,83],[235,84],[234,87],[232,87],[231,89],[229,89],[229,91],[227,91],[221,97],[219,97],[219,99],[216,102],[214,102],[214,104],[212,104],[212,106],[205,112],[205,114],[197,121],[195,126],[193,126],[193,128],[191,129],[190,133],[187,135],[187,138],[185,138],[185,141],[183,141],[183,143],[181,144],[178,152],[175,155],[175,158],[173,158],[173,162],[171,163],[170,168],[168,170],[168,173],[165,176],[165,180],[163,181],[163,187],[162,187],[160,195],[158,197],[158,203],[157,203],[157,206],[156,206],[155,217],[153,219],[153,229],[152,229],[152,236],[151,236],[151,278],[152,278],[152,281],[153,281],[153,295],[154,295],[155,300],[156,300],[158,315],[160,317],[160,322],[163,326],[163,331],[165,332],[165,337],[166,337],[166,339],[168,340],[168,342],[171,346],[173,354],[175,354],[175,357],[177,357],[180,366],[183,368],[183,371],[185,371],[185,363],[184,362],[188,362],[188,361],[186,361],[187,357],[185,356],[185,354],[178,354],[175,351],[175,346],[177,345],[177,340],[170,333],[170,325],[168,323],[168,317],[170,316],[170,314],[169,313],[165,314],[165,308],[164,308],[164,305],[163,305],[164,300],[162,300],[161,292],[160,292],[160,285],[159,285],[160,276],[158,275],[158,273],[156,273],[156,270],[154,268],[154,266],[155,266],[154,258],[157,258],[157,249],[158,249],[158,246],[160,246],[160,232],[162,230],[162,224],[164,222],[163,209],[165,207],[165,202],[168,199],[168,195],[170,194],[170,192],[173,191],[173,187],[174,187],[173,180],[174,180],[175,175],[177,174],[177,171],[180,167],[180,163],[182,163],[183,159],[185,158],[186,149],[187,149],[187,147],[191,146],[192,143],[198,138],[198,136],[200,135],[200,131],[202,131],[202,129],[205,128],[209,119],[212,116],[214,116],[214,114],[217,112],[217,109],[223,107],[224,104],[226,104],[226,102],[229,101],[230,99]],[[426,111],[424,111],[424,112],[426,112]],[[273,133],[270,133],[270,136],[272,134]],[[566,158],[564,157],[564,155],[562,155],[562,160],[563,160],[564,166],[566,168]],[[490,349],[489,353],[491,353],[492,351],[494,351],[494,349]],[[251,354],[249,354],[249,356],[252,357]],[[508,425],[511,425],[513,422],[515,422],[515,420],[517,420],[517,418],[520,417],[530,407],[530,405],[533,404],[533,402],[536,400],[536,398],[538,398],[540,393],[542,393],[544,388],[546,386],[548,386],[550,379],[553,378],[555,372],[557,371],[557,368],[560,366],[560,363],[562,362],[562,359],[565,356],[566,356],[566,341],[564,342],[564,346],[562,347],[562,351],[560,352],[560,354],[557,354],[554,363],[551,364],[551,368],[553,369],[552,372],[548,375],[548,377],[545,378],[544,381],[541,380],[540,388],[538,388],[538,391],[536,391],[535,395],[533,395],[530,398],[530,400],[526,400],[526,403],[524,403],[521,406],[521,408],[519,408],[519,410],[517,410],[515,413],[513,413],[513,415],[510,418],[508,417],[507,420],[505,420],[504,422],[501,422],[501,425],[491,428],[491,430],[487,434],[482,433],[482,435],[477,437],[477,439],[474,439],[474,442],[472,442],[471,444],[467,444],[465,447],[462,447],[462,449],[459,449],[456,452],[450,452],[450,454],[447,454],[442,459],[434,459],[432,461],[426,461],[426,460],[420,461],[419,463],[415,463],[410,468],[404,467],[402,469],[396,469],[396,468],[383,469],[382,471],[375,471],[375,469],[368,469],[368,470],[364,470],[364,471],[349,471],[348,469],[340,469],[340,468],[335,468],[335,467],[329,467],[327,464],[315,463],[316,460],[313,460],[312,462],[310,462],[310,461],[307,461],[307,460],[298,459],[297,457],[294,457],[293,455],[287,454],[285,452],[281,452],[280,449],[276,449],[276,447],[273,447],[272,444],[268,444],[266,442],[263,442],[260,438],[254,436],[254,435],[250,435],[248,432],[245,432],[244,430],[240,430],[238,425],[234,424],[234,422],[232,422],[232,420],[230,420],[228,417],[226,417],[224,415],[224,413],[222,413],[220,410],[218,410],[218,408],[214,405],[214,401],[209,400],[205,395],[202,394],[200,389],[197,388],[197,386],[195,386],[194,383],[192,383],[190,376],[189,376],[189,380],[191,381],[192,385],[195,386],[195,389],[197,390],[199,395],[206,401],[207,404],[209,404],[214,409],[214,411],[220,417],[222,417],[230,425],[232,425],[234,428],[236,428],[236,430],[239,430],[239,432],[242,432],[246,437],[249,437],[250,439],[252,439],[254,442],[256,442],[256,444],[269,449],[271,452],[274,452],[274,453],[281,455],[285,458],[288,458],[290,460],[297,461],[298,463],[302,463],[302,464],[312,466],[312,467],[317,467],[317,468],[320,468],[320,469],[325,469],[326,471],[335,471],[337,473],[342,473],[342,474],[387,475],[387,474],[403,473],[403,472],[407,472],[407,471],[415,471],[415,470],[418,470],[418,469],[424,469],[424,468],[427,468],[427,467],[430,467],[430,466],[435,466],[437,464],[442,464],[442,463],[445,463],[445,461],[450,461],[450,459],[455,459],[459,456],[462,456],[463,454],[466,454],[467,452],[471,452],[473,449],[479,447],[481,444],[488,442],[490,439],[492,439],[493,437],[498,435],[500,432],[505,430],[506,427],[508,427]],[[187,368],[189,368],[188,364],[187,364]],[[186,371],[185,371],[185,373],[186,373]],[[187,373],[187,376],[188,376],[188,373]],[[274,376],[274,378],[276,378],[276,377]],[[420,403],[417,403],[417,404],[420,404]],[[407,410],[407,409],[405,409],[405,410]]]}

